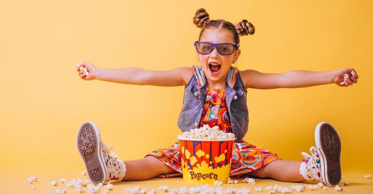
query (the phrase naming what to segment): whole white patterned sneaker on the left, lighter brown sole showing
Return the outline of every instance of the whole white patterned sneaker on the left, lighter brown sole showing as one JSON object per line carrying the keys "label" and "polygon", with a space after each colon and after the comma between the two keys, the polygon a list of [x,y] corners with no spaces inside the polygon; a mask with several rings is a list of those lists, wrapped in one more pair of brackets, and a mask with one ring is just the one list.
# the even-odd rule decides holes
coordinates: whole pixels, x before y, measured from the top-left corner
{"label": "whole white patterned sneaker on the left, lighter brown sole showing", "polygon": [[100,132],[93,122],[88,121],[80,126],[76,143],[92,182],[97,184],[123,179],[126,165],[116,159],[117,153],[110,154],[113,147],[108,148],[101,141]]}

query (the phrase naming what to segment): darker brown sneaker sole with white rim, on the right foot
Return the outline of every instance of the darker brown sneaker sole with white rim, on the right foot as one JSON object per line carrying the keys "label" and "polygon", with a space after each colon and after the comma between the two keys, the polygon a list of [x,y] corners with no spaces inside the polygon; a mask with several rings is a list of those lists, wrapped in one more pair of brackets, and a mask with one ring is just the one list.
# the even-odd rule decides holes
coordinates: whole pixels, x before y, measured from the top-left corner
{"label": "darker brown sneaker sole with white rim, on the right foot", "polygon": [[315,142],[321,178],[328,186],[335,186],[341,181],[341,139],[332,125],[322,122],[316,126]]}

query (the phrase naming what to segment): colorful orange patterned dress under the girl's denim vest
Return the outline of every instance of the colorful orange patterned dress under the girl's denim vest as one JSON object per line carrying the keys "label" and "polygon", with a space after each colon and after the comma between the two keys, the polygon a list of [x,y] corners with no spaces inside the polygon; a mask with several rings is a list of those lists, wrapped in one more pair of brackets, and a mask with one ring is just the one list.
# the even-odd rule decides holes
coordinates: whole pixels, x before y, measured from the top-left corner
{"label": "colorful orange patterned dress under the girl's denim vest", "polygon": [[[238,71],[236,71],[237,73]],[[234,82],[235,80],[233,80]],[[219,126],[219,129],[224,132],[232,132],[225,101],[225,89],[206,88],[206,94],[206,103],[198,127],[207,124],[210,127]],[[168,148],[157,149],[148,155],[155,156],[170,168],[181,173],[181,153],[179,149],[179,143],[176,142]],[[243,139],[238,140],[233,145],[230,175],[247,176],[246,173],[259,169],[277,159],[280,158],[275,153],[257,148]],[[160,177],[172,177],[172,175],[161,175]]]}

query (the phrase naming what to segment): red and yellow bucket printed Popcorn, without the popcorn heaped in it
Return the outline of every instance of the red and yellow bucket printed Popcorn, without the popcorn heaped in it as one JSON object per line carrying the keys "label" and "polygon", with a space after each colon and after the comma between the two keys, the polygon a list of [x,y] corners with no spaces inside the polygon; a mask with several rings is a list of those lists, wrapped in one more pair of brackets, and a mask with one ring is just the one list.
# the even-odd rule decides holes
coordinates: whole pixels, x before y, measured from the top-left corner
{"label": "red and yellow bucket printed Popcorn, without the popcorn heaped in it", "polygon": [[183,180],[213,184],[228,182],[235,139],[179,138]]}

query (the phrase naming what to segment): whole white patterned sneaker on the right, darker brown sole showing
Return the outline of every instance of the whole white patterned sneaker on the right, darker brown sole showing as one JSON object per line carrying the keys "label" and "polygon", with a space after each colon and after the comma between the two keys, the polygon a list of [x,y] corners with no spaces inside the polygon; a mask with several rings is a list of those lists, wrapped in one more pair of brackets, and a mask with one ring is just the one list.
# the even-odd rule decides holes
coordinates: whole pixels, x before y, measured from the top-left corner
{"label": "whole white patterned sneaker on the right, darker brown sole showing", "polygon": [[305,159],[300,174],[305,180],[335,186],[341,181],[341,139],[332,125],[322,122],[316,126],[315,142],[316,146],[310,148],[312,156],[302,152]]}

